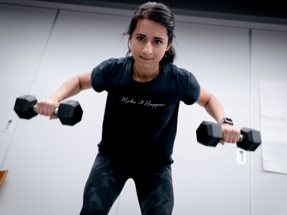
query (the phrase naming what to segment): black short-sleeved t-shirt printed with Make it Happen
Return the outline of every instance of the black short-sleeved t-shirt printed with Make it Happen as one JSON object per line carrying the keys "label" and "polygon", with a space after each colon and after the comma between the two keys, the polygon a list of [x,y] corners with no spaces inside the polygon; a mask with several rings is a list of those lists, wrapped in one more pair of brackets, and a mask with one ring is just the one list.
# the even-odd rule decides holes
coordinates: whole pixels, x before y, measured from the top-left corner
{"label": "black short-sleeved t-shirt printed with Make it Happen", "polygon": [[114,159],[173,163],[179,101],[193,104],[200,87],[192,73],[165,63],[148,82],[132,78],[133,58],[111,58],[92,72],[92,86],[107,91],[99,152]]}

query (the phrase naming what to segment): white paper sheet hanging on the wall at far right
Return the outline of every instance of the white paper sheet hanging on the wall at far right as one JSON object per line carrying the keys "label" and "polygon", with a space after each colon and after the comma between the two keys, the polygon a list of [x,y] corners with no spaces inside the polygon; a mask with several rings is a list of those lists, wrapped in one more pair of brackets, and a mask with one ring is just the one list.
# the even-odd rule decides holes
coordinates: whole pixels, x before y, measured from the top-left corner
{"label": "white paper sheet hanging on the wall at far right", "polygon": [[260,80],[263,169],[287,174],[287,82]]}

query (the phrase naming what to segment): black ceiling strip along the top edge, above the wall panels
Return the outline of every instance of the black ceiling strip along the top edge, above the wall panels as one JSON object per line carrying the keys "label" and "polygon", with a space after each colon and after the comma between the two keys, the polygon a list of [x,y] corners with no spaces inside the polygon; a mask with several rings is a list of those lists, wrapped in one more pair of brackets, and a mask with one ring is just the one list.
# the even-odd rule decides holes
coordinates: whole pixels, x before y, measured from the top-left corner
{"label": "black ceiling strip along the top edge, above the wall panels", "polygon": [[[35,0],[45,1],[45,0]],[[91,5],[134,10],[148,0],[50,0],[78,5]],[[283,0],[162,0],[175,14],[226,18],[287,25],[287,7]]]}

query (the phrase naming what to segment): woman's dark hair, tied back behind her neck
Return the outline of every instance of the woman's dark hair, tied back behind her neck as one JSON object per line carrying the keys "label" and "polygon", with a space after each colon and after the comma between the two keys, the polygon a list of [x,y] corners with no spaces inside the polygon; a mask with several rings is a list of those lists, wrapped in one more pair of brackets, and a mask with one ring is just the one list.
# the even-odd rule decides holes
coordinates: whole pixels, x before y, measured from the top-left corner
{"label": "woman's dark hair, tied back behind her neck", "polygon": [[[175,50],[172,47],[172,40],[175,38],[174,35],[174,16],[170,8],[164,4],[156,3],[156,2],[147,2],[143,5],[140,5],[131,20],[130,26],[124,35],[129,35],[129,40],[132,38],[133,31],[135,30],[137,21],[139,19],[150,19],[156,23],[159,23],[162,26],[165,26],[168,31],[168,45],[171,44],[169,50],[165,53],[163,58],[160,60],[160,64],[165,62],[173,62],[175,58]],[[129,51],[127,53],[127,57],[131,55],[132,50],[131,46],[128,42]]]}

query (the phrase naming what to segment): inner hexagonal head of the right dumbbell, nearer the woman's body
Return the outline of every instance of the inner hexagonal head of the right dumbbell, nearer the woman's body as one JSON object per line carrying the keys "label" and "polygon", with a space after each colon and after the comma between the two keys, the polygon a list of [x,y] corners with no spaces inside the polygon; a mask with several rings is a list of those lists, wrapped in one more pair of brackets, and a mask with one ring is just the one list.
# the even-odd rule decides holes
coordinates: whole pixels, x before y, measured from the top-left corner
{"label": "inner hexagonal head of the right dumbbell, nearer the woman's body", "polygon": [[215,147],[222,139],[221,126],[213,122],[202,121],[196,130],[196,138],[203,145]]}

